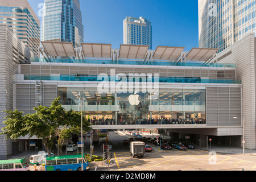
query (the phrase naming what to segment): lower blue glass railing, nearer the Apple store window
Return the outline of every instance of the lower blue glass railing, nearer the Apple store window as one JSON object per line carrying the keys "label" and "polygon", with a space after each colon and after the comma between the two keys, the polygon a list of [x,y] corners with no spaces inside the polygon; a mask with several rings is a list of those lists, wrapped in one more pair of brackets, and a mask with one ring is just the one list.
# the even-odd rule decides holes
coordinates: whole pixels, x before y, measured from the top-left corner
{"label": "lower blue glass railing, nearer the Apple store window", "polygon": [[[99,78],[98,76],[34,76],[34,75],[24,75],[24,80],[48,80],[48,81],[108,81],[104,78]],[[140,78],[139,82],[143,82]],[[109,77],[109,81],[112,78]],[[116,82],[119,80],[116,78]],[[146,79],[147,81],[147,79]],[[218,80],[218,79],[201,79],[201,78],[184,78],[184,77],[159,77],[156,82],[160,83],[203,83],[203,84],[241,84],[241,80]],[[129,78],[127,78],[129,82]],[[155,78],[152,77],[150,82],[155,82]]]}

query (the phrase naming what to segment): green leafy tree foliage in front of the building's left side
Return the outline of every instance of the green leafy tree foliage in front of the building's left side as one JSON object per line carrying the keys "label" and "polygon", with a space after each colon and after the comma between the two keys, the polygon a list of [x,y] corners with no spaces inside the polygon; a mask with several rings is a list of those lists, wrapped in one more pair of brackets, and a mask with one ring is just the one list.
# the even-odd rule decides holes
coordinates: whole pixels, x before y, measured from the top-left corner
{"label": "green leafy tree foliage in front of the building's left side", "polygon": [[[62,149],[65,139],[71,138],[72,134],[81,133],[81,111],[76,112],[72,109],[65,111],[59,103],[59,98],[52,101],[49,107],[34,107],[36,113],[23,116],[22,111],[3,111],[7,114],[6,126],[2,128],[2,135],[6,138],[17,139],[28,135],[29,138],[36,137],[43,140],[48,154],[49,148],[53,146],[55,137]],[[90,130],[90,124],[83,116],[83,133]]]}

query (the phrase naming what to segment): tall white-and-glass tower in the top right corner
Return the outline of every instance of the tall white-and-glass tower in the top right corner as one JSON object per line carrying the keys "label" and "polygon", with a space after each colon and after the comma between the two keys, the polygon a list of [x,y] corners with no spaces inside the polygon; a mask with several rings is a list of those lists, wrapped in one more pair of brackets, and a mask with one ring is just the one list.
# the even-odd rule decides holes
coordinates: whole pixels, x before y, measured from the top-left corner
{"label": "tall white-and-glass tower in the top right corner", "polygon": [[199,47],[220,52],[255,33],[255,0],[199,0]]}

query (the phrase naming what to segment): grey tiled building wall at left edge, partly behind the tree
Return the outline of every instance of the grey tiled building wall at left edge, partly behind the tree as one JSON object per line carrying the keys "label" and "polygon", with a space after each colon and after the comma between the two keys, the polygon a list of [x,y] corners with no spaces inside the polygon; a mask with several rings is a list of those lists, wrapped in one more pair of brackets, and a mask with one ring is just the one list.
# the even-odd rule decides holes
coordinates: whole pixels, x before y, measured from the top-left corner
{"label": "grey tiled building wall at left edge, partly behind the tree", "polygon": [[[14,76],[20,64],[29,64],[34,54],[9,27],[0,25],[0,128],[2,128],[4,110],[14,109]],[[0,159],[6,159],[19,151],[19,142],[5,139],[0,135]]]}

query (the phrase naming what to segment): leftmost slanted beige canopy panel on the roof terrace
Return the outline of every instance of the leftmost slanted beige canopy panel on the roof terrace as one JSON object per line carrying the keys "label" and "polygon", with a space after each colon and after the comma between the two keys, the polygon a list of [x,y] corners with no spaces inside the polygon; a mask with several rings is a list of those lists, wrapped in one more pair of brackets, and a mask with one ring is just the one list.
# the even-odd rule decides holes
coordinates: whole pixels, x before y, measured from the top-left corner
{"label": "leftmost slanted beige canopy panel on the roof terrace", "polygon": [[76,57],[72,42],[41,42],[49,56]]}

